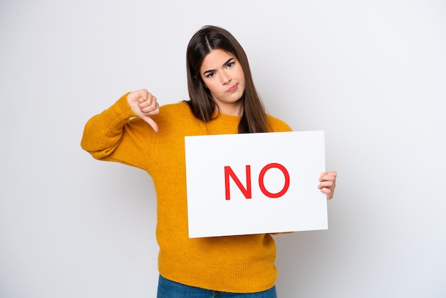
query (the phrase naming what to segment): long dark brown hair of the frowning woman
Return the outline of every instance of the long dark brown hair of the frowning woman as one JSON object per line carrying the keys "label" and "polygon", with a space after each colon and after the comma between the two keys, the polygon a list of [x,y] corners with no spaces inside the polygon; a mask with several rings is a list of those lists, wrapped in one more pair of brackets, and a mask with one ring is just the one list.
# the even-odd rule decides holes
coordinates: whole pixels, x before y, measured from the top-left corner
{"label": "long dark brown hair of the frowning woman", "polygon": [[242,66],[245,90],[240,101],[243,103],[242,118],[239,123],[239,133],[261,133],[269,130],[265,108],[249,68],[247,54],[229,31],[217,26],[204,26],[192,36],[187,46],[187,88],[189,89],[190,106],[195,117],[209,122],[216,110],[217,104],[212,99],[209,89],[205,88],[199,69],[204,57],[214,49],[232,53]]}

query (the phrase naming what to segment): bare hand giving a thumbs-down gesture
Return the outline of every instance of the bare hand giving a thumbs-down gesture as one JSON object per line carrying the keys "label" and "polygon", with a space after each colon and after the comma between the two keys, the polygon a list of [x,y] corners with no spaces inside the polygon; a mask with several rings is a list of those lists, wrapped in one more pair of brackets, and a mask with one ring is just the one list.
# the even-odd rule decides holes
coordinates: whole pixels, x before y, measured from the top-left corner
{"label": "bare hand giving a thumbs-down gesture", "polygon": [[133,113],[138,115],[142,120],[145,120],[145,122],[152,126],[153,130],[158,132],[157,123],[150,117],[160,113],[160,105],[157,103],[157,98],[149,91],[141,89],[128,93],[127,101]]}

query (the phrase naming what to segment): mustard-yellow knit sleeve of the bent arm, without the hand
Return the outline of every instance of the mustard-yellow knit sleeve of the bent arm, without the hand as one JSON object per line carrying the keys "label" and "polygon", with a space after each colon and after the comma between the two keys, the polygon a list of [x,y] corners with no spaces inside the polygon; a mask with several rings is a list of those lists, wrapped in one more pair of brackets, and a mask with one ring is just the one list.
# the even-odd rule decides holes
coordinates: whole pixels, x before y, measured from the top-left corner
{"label": "mustard-yellow knit sleeve of the bent arm, without the hand", "polygon": [[150,151],[150,126],[128,105],[127,94],[85,124],[81,148],[98,160],[115,161],[145,169],[141,158]]}

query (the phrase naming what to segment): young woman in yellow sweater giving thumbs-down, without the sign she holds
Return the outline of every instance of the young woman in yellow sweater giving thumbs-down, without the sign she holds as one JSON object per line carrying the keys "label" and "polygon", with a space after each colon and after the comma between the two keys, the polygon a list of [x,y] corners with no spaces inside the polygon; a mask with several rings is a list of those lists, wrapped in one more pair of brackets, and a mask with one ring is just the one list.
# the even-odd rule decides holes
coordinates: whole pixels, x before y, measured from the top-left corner
{"label": "young woman in yellow sweater giving thumbs-down, without the sign she holds", "polygon": [[[158,297],[276,297],[276,247],[269,234],[188,237],[185,136],[289,131],[268,115],[247,56],[228,31],[205,26],[187,46],[190,101],[160,107],[147,90],[125,94],[85,125],[93,158],[151,175],[157,192]],[[315,178],[316,179],[316,178]],[[333,197],[336,172],[318,188]]]}

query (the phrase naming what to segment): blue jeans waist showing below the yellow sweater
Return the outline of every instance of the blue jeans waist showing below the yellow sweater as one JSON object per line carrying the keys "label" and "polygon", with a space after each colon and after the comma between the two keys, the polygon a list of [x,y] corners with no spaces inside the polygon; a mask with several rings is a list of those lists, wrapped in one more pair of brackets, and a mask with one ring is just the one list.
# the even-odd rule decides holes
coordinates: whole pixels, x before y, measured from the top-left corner
{"label": "blue jeans waist showing below the yellow sweater", "polygon": [[191,287],[178,282],[172,282],[160,275],[158,281],[157,298],[277,298],[276,287],[267,289],[264,292],[256,292],[249,294],[237,294],[228,292],[212,291],[210,289],[202,289],[199,287]]}

